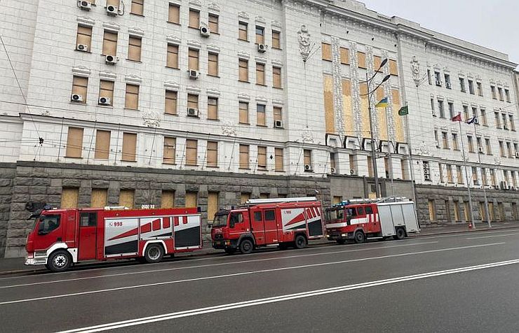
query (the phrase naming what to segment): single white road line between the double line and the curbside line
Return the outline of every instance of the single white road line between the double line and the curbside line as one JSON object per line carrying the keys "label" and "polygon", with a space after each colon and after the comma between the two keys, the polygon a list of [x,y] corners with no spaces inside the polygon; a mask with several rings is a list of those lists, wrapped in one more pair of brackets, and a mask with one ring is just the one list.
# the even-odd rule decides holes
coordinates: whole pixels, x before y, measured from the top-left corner
{"label": "single white road line between the double line and the curbside line", "polygon": [[267,272],[272,272],[272,271],[288,271],[289,269],[304,269],[304,268],[308,268],[308,267],[320,267],[320,266],[328,266],[328,265],[332,265],[332,264],[346,264],[349,262],[363,262],[363,261],[368,261],[368,260],[386,259],[386,258],[391,258],[391,257],[404,257],[407,255],[422,255],[422,254],[426,254],[426,253],[438,253],[438,252],[446,252],[446,251],[452,251],[452,250],[464,250],[464,249],[468,249],[468,248],[482,248],[482,247],[487,247],[487,246],[498,246],[498,245],[503,245],[503,244],[505,244],[505,243],[501,242],[501,243],[489,243],[489,244],[481,244],[481,245],[473,245],[473,246],[459,246],[456,248],[440,248],[437,250],[424,250],[424,251],[417,251],[417,252],[411,252],[411,253],[398,253],[396,255],[382,255],[379,257],[365,257],[365,258],[359,258],[359,259],[339,260],[339,261],[335,261],[335,262],[321,262],[318,264],[304,264],[304,265],[298,265],[298,266],[279,267],[279,268],[274,268],[274,269],[259,269],[257,271],[243,271],[241,273],[234,273],[234,274],[223,274],[223,275],[217,275],[217,276],[203,276],[201,278],[187,278],[184,280],[166,281],[166,282],[158,282],[158,283],[146,283],[146,284],[142,284],[142,285],[129,285],[127,287],[90,290],[90,291],[86,291],[86,292],[73,292],[70,294],[34,297],[34,298],[29,298],[29,299],[15,299],[12,301],[0,302],[0,305],[24,303],[24,302],[35,302],[35,301],[41,301],[43,299],[57,299],[57,298],[72,297],[72,296],[91,295],[91,294],[98,294],[101,292],[113,292],[113,291],[129,290],[129,289],[136,289],[136,288],[156,287],[157,285],[172,285],[175,283],[204,281],[204,280],[212,280],[212,279],[217,279],[217,278],[228,278],[231,276],[244,276],[244,275],[250,275],[250,274],[267,273]]}

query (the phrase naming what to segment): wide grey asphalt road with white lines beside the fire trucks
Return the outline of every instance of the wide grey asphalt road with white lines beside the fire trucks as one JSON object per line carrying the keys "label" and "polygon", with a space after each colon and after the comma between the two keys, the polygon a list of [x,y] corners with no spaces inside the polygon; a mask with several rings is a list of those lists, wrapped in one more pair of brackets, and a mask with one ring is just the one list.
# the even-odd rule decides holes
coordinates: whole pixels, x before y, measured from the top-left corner
{"label": "wide grey asphalt road with white lines beside the fire trucks", "polygon": [[518,332],[519,229],[0,278],[1,332]]}

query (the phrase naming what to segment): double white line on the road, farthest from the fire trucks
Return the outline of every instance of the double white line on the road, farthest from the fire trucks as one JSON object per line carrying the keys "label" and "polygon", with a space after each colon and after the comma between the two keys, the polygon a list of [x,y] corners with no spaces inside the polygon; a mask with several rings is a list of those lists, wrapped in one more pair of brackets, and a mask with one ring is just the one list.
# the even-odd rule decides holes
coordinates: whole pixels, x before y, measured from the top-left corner
{"label": "double white line on the road, farthest from the fire trucks", "polygon": [[469,266],[469,267],[459,267],[457,269],[447,269],[444,271],[431,271],[429,273],[424,273],[424,274],[402,276],[399,278],[387,278],[384,280],[371,281],[371,282],[367,282],[367,283],[342,285],[340,287],[335,287],[335,288],[311,290],[308,292],[297,292],[295,294],[280,295],[280,296],[267,297],[267,298],[262,298],[262,299],[252,299],[250,301],[244,301],[244,302],[235,302],[235,303],[229,303],[229,304],[221,304],[221,305],[217,305],[217,306],[208,306],[205,308],[191,309],[191,310],[187,310],[187,311],[165,313],[165,314],[162,314],[159,316],[136,318],[136,319],[131,319],[131,320],[123,320],[123,321],[119,321],[116,323],[107,323],[107,324],[95,325],[95,326],[90,326],[90,327],[82,327],[82,328],[78,328],[78,329],[74,329],[74,330],[63,331],[62,333],[102,332],[102,331],[107,331],[107,330],[116,330],[116,329],[123,328],[123,327],[156,323],[156,322],[163,321],[163,320],[173,320],[173,319],[177,319],[177,318],[199,316],[199,315],[203,315],[206,313],[229,311],[232,309],[240,309],[240,308],[245,308],[245,307],[250,307],[250,306],[260,306],[263,304],[285,302],[285,301],[290,301],[292,299],[302,299],[302,298],[307,298],[307,297],[316,297],[316,296],[321,296],[321,295],[334,294],[337,292],[346,292],[349,290],[372,288],[372,287],[377,287],[379,285],[389,285],[389,284],[393,284],[393,283],[401,283],[401,282],[406,282],[406,281],[416,281],[416,280],[422,280],[424,278],[433,278],[436,276],[459,274],[459,273],[464,273],[467,271],[476,271],[476,270],[480,270],[480,269],[503,267],[503,266],[508,266],[511,264],[519,264],[519,259],[507,260],[504,262],[492,262],[490,264],[480,264],[480,265]]}

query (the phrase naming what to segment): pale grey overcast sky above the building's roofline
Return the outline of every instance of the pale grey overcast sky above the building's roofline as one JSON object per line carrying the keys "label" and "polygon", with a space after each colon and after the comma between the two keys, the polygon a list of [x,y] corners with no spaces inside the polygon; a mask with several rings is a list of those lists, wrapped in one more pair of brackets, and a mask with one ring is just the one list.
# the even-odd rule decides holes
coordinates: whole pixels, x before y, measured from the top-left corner
{"label": "pale grey overcast sky above the building's roofline", "polygon": [[399,16],[508,54],[519,63],[518,0],[360,0],[369,9]]}

